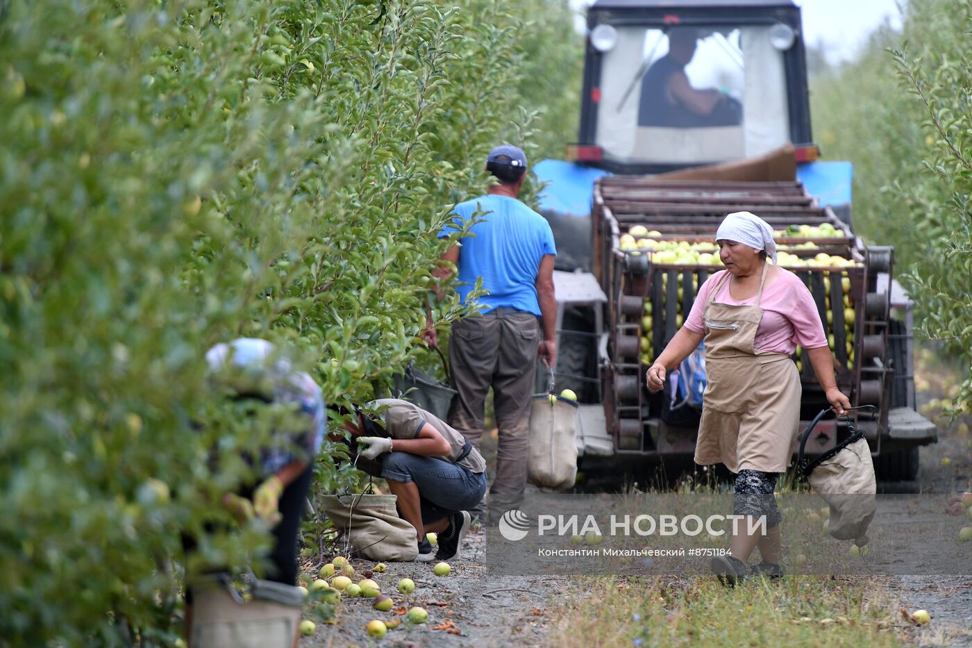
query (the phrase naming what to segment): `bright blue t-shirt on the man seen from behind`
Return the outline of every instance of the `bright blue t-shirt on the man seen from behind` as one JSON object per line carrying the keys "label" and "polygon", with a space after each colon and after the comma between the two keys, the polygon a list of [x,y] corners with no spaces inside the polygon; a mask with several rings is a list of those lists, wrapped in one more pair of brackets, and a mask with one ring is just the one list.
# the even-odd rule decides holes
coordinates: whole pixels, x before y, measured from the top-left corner
{"label": "bright blue t-shirt on the man seen from behind", "polygon": [[[540,314],[537,301],[537,273],[540,260],[557,254],[550,225],[536,211],[516,198],[482,196],[456,205],[454,223],[462,227],[477,211],[479,223],[472,226],[472,236],[463,238],[459,251],[459,295],[465,303],[476,278],[483,278],[488,295],[480,298],[487,312],[500,306]],[[439,238],[455,234],[451,225]]]}

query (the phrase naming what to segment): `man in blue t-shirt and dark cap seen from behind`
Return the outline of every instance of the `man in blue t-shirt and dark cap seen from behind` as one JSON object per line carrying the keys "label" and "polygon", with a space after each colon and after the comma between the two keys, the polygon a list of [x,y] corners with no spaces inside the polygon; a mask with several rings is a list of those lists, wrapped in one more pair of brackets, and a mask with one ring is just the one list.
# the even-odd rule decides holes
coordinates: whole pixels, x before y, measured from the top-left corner
{"label": "man in blue t-shirt and dark cap seen from behind", "polygon": [[[499,449],[490,493],[512,496],[527,484],[531,396],[537,358],[553,367],[556,349],[557,299],[553,260],[557,254],[550,225],[517,199],[526,178],[527,157],[515,146],[498,146],[486,158],[486,170],[499,181],[486,196],[455,206],[459,228],[473,217],[479,222],[457,240],[442,259],[458,269],[458,291],[467,302],[476,280],[488,292],[478,300],[479,313],[453,323],[449,362],[459,398],[449,424],[479,448],[486,393],[493,387]],[[447,226],[439,237],[455,235]],[[435,272],[448,275],[447,269]],[[430,327],[429,342],[436,342]],[[498,499],[504,499],[500,497]],[[482,504],[472,513],[480,520]]]}

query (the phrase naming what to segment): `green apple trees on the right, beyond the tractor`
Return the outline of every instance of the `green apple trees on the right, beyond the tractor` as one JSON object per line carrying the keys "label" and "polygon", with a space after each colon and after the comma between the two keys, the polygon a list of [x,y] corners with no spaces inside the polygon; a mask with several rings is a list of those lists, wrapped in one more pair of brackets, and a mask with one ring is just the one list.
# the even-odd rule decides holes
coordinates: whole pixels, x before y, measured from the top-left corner
{"label": "green apple trees on the right, beyond the tractor", "polygon": [[[908,3],[858,60],[814,80],[817,136],[854,163],[858,234],[895,247],[917,321],[972,362],[972,2]],[[956,406],[968,410],[966,381]]]}

